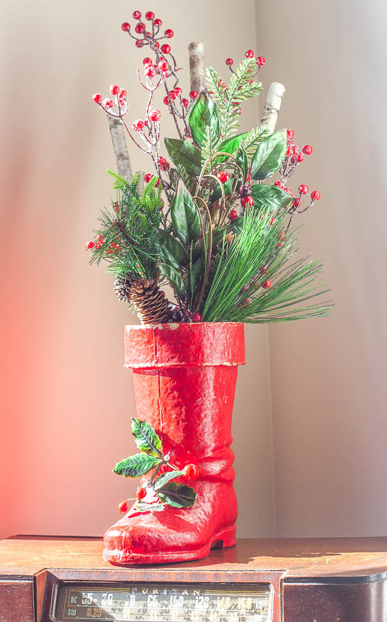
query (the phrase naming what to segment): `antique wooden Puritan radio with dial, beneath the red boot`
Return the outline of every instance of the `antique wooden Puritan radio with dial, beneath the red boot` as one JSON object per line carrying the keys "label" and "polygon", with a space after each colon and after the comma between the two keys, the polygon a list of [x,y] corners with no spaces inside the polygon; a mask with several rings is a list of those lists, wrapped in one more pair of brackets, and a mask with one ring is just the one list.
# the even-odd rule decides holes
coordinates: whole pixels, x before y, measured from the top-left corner
{"label": "antique wooden Puritan radio with dial, beneath the red boot", "polygon": [[100,538],[0,543],[1,622],[386,622],[387,538],[238,540],[115,567]]}

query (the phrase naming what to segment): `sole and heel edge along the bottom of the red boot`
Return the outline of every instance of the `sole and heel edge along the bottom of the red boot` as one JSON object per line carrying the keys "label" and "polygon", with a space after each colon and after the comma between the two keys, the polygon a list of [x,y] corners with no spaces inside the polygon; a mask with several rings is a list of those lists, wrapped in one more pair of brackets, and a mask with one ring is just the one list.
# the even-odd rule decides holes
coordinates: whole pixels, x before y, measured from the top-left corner
{"label": "sole and heel edge along the bottom of the red boot", "polygon": [[[211,549],[228,549],[236,543],[236,525],[220,529],[207,544],[194,551],[176,551],[171,553],[126,553],[122,554],[119,549],[104,549],[102,557],[114,566],[128,564],[162,564],[181,561],[191,561],[207,557]],[[120,559],[120,561],[118,561]]]}

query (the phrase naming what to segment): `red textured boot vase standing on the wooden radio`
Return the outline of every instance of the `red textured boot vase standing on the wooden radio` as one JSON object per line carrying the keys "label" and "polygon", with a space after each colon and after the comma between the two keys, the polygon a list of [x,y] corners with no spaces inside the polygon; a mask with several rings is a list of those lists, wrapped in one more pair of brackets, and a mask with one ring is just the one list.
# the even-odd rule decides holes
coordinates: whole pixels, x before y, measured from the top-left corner
{"label": "red textured boot vase standing on the wooden radio", "polygon": [[198,466],[197,480],[178,480],[198,498],[189,509],[131,509],[106,531],[104,559],[120,565],[184,561],[234,545],[238,506],[230,444],[237,366],[245,364],[243,324],[126,326],[124,358],[133,368],[138,418],[155,428],[174,465]]}

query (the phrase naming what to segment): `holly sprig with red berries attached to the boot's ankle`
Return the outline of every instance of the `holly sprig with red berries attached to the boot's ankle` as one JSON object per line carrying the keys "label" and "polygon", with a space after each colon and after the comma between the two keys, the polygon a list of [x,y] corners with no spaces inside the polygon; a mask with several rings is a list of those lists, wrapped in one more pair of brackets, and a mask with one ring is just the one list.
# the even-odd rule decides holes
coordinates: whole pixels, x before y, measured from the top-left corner
{"label": "holly sprig with red berries attached to the boot's ankle", "polygon": [[[124,458],[115,465],[113,471],[124,478],[142,478],[152,472],[151,478],[138,487],[133,510],[162,511],[166,505],[191,507],[196,501],[196,492],[187,484],[173,480],[195,480],[199,474],[198,467],[187,464],[184,469],[178,469],[171,464],[170,455],[164,455],[162,451],[160,437],[146,421],[133,417],[132,433],[141,453]],[[121,513],[129,510],[129,501],[131,499],[120,503],[118,510]]]}

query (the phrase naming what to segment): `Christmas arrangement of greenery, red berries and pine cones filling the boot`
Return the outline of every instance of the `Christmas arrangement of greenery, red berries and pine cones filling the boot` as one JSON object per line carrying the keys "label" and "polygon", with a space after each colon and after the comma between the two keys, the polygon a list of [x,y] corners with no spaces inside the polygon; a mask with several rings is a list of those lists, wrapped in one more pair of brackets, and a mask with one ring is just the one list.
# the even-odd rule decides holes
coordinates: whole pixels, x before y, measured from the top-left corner
{"label": "Christmas arrangement of greenery, red berries and pine cones filling the boot", "polygon": [[[137,68],[147,93],[143,119],[126,122],[127,92],[93,101],[106,115],[117,158],[117,196],[102,209],[87,244],[91,263],[107,263],[115,292],[142,323],[274,322],[325,316],[330,304],[315,303],[321,263],[298,258],[296,217],[320,199],[290,178],[312,147],[294,144],[292,129],[270,132],[265,124],[238,133],[241,106],[263,90],[263,57],[247,50],[225,84],[214,68],[206,85],[188,97],[178,86],[180,68],[153,12],[133,12],[137,22],[122,30],[138,48],[149,49]],[[134,30],[134,32],[132,32]],[[162,42],[164,41],[164,42]],[[160,111],[156,97],[160,91]],[[161,99],[162,98],[162,99]],[[162,108],[162,106],[160,106]],[[161,141],[162,117],[170,114],[176,137]],[[126,138],[147,153],[154,172],[132,175]],[[163,149],[166,151],[162,151]],[[164,293],[170,285],[173,300]]]}

